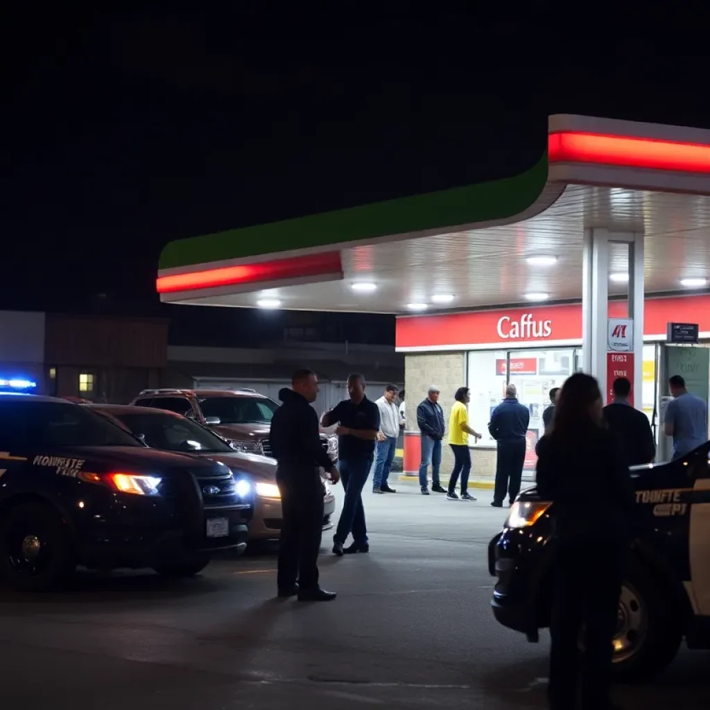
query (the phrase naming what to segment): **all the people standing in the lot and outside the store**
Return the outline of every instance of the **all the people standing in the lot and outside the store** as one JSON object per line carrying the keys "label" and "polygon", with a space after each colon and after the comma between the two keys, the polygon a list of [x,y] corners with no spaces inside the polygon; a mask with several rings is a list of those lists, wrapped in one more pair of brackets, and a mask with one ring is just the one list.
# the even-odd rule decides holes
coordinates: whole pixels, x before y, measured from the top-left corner
{"label": "all the people standing in the lot and outside the store", "polygon": [[[283,528],[278,558],[279,596],[302,601],[328,601],[334,592],[319,584],[317,558],[322,536],[322,484],[319,466],[337,483],[345,497],[333,537],[336,555],[369,552],[362,490],[373,470],[373,491],[394,492],[388,473],[405,413],[396,405],[397,388],[387,386],[376,402],[365,394],[361,375],[347,383],[349,399],[324,413],[320,423],[336,425],[339,461],[335,466],[322,449],[319,421],[310,406],[318,393],[315,373],[298,371],[292,389],[271,423],[271,446],[278,459],[278,485],[283,505]],[[629,466],[655,458],[655,441],[648,417],[630,405],[631,383],[613,382],[613,402],[603,406],[596,380],[576,373],[562,388],[550,391],[550,406],[543,413],[545,432],[537,443],[537,489],[555,503],[557,555],[552,603],[550,682],[552,710],[582,706],[610,710],[612,639],[618,599],[635,537],[635,495]],[[667,406],[664,432],[673,438],[674,457],[704,444],[708,412],[704,400],[689,393],[683,378],[670,378],[674,399]],[[449,415],[449,446],[454,469],[448,488],[439,480],[442,441],[446,432],[439,388],[431,386],[417,407],[422,435],[419,471],[421,492],[429,495],[427,469],[432,467],[432,491],[448,498],[475,500],[467,491],[471,455],[469,437],[481,435],[469,425],[469,390],[454,395]],[[498,464],[493,506],[506,496],[513,503],[520,490],[525,459],[528,408],[520,404],[514,385],[491,415],[488,430],[496,439]],[[374,464],[374,466],[373,466]],[[603,518],[603,525],[589,520]],[[351,545],[345,547],[352,536]],[[579,639],[584,640],[581,688],[577,660]]]}

